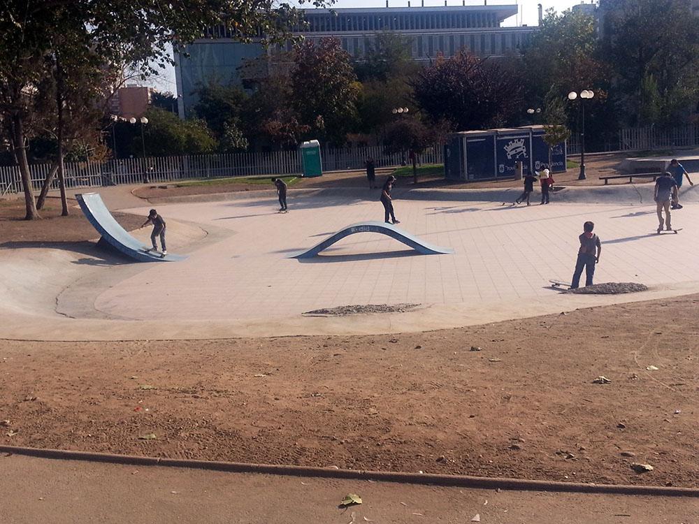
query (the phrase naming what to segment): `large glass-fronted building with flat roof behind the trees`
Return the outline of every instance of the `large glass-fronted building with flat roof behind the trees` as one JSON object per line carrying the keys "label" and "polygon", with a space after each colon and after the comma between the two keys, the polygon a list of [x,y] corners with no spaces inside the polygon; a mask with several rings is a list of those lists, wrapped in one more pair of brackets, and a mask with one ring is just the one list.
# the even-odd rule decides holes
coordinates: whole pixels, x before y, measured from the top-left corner
{"label": "large glass-fronted building with flat roof behind the trees", "polygon": [[[396,31],[409,38],[412,57],[430,61],[466,49],[481,57],[501,57],[519,52],[536,27],[501,27],[517,15],[517,5],[342,8],[305,10],[306,27],[296,34],[317,41],[333,36],[355,59],[370,49],[376,34]],[[196,103],[194,92],[208,82],[243,83],[240,66],[245,59],[290,51],[291,43],[265,49],[259,43],[240,43],[224,26],[211,27],[207,38],[187,46],[175,56],[175,78],[180,95],[180,115]]]}

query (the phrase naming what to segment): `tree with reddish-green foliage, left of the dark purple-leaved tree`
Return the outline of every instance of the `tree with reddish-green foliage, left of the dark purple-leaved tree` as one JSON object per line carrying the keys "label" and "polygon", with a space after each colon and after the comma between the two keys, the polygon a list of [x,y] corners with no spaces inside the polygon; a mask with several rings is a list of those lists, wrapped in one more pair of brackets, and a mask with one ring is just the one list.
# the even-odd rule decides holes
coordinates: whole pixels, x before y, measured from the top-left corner
{"label": "tree with reddish-green foliage, left of the dark purple-leaved tree", "polygon": [[291,73],[292,105],[316,138],[343,145],[356,119],[359,84],[337,38],[308,40],[297,49]]}

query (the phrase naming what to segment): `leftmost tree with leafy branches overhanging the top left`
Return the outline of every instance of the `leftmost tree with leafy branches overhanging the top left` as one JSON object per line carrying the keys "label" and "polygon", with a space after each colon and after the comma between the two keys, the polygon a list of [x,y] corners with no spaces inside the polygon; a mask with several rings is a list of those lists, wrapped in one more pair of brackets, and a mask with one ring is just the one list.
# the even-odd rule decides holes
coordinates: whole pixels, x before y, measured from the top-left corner
{"label": "leftmost tree with leafy branches overhanging the top left", "polygon": [[[325,5],[324,0],[313,3]],[[206,27],[224,24],[238,40],[261,33],[264,43],[272,43],[284,41],[299,22],[300,12],[289,3],[268,0],[7,0],[0,10],[0,112],[13,136],[26,218],[38,217],[25,150],[26,124],[34,117],[32,99],[47,73],[46,59],[58,56],[57,36],[73,38],[82,31],[85,38],[77,38],[80,45],[72,48],[75,61],[94,57],[105,75],[121,72],[127,64],[148,75],[171,61],[171,43],[181,48],[203,36]],[[59,54],[69,59],[65,49]]]}

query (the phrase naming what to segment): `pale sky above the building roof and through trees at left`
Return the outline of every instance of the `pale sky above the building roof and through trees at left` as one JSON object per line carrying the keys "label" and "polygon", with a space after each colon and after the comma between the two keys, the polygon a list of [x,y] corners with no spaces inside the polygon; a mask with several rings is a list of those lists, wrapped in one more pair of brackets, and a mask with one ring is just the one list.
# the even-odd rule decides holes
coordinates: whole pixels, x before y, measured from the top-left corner
{"label": "pale sky above the building roof and through trees at left", "polygon": [[[488,0],[491,5],[514,4],[519,5],[519,16],[510,17],[503,23],[504,26],[518,26],[526,24],[529,26],[538,24],[538,4],[541,3],[544,10],[554,8],[556,11],[563,11],[575,6],[576,3],[583,3],[582,0]],[[298,3],[291,0],[291,3]],[[584,3],[590,3],[585,0]],[[308,6],[306,3],[302,7]],[[337,0],[333,7],[384,7],[386,0]],[[419,6],[420,0],[412,0],[413,6]],[[426,6],[443,6],[444,0],[425,0]],[[447,0],[449,6],[461,6],[461,0]],[[482,6],[483,0],[466,0],[467,6]],[[389,7],[408,6],[408,0],[389,0]],[[175,93],[175,69],[168,67],[162,75],[151,78],[145,85],[150,85],[161,92]]]}

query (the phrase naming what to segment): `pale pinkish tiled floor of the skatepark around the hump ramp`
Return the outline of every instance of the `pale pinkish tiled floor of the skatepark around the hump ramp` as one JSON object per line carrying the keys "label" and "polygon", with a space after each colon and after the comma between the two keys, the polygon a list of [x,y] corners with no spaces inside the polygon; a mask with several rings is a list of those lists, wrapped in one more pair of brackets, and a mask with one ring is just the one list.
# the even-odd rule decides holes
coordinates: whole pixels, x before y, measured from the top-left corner
{"label": "pale pinkish tiled floor of the skatepark around the hump ramp", "polygon": [[[421,256],[373,233],[341,240],[310,261],[287,255],[340,228],[382,219],[377,201],[303,196],[288,214],[270,198],[159,205],[166,219],[227,228],[231,236],[182,263],[157,264],[101,293],[95,307],[127,319],[272,319],[349,304],[527,303],[570,281],[586,220],[603,239],[596,282],[649,286],[697,279],[699,205],[675,212],[679,235],[656,235],[654,206],[396,200],[404,228],[453,255]],[[147,210],[143,208],[139,212]],[[531,311],[537,314],[537,311]]]}

